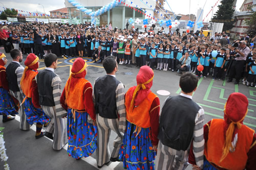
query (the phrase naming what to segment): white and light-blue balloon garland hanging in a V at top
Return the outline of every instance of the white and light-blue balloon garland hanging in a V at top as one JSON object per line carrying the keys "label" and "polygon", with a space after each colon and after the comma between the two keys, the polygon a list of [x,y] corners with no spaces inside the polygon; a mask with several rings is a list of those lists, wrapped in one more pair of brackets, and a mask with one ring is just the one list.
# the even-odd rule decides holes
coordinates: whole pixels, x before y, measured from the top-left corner
{"label": "white and light-blue balloon garland hanging in a V at top", "polygon": [[103,14],[104,12],[111,10],[118,4],[121,4],[121,1],[119,2],[119,1],[114,0],[113,2],[109,3],[108,5],[101,7],[97,11],[93,12],[91,9],[84,8],[82,5],[78,4],[75,0],[68,0],[68,2],[70,4],[72,4],[74,7],[76,7],[77,9],[79,9],[80,11],[86,13],[87,15],[90,15],[91,17],[97,17],[97,16]]}

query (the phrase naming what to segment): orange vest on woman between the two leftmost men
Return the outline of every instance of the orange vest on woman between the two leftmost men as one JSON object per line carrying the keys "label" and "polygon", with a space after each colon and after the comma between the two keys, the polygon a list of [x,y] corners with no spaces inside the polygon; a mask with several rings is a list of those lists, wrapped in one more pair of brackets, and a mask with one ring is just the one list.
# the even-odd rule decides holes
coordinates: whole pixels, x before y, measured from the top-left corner
{"label": "orange vest on woman between the two leftmost men", "polygon": [[26,74],[26,77],[24,78],[21,85],[22,91],[28,98],[31,98],[32,97],[32,81],[37,75],[37,72],[32,70],[27,70],[25,74]]}

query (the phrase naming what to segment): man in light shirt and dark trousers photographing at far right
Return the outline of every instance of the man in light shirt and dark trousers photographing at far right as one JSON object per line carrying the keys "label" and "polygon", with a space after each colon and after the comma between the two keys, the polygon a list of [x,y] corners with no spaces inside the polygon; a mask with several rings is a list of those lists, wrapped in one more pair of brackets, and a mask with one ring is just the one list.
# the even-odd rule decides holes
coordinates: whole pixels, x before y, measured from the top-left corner
{"label": "man in light shirt and dark trousers photographing at far right", "polygon": [[245,41],[236,41],[234,46],[236,46],[238,43],[239,45],[236,48],[236,56],[233,58],[234,61],[231,65],[229,79],[227,81],[232,82],[232,79],[235,78],[236,81],[234,82],[234,84],[239,84],[246,58],[250,53],[250,48],[246,46]]}

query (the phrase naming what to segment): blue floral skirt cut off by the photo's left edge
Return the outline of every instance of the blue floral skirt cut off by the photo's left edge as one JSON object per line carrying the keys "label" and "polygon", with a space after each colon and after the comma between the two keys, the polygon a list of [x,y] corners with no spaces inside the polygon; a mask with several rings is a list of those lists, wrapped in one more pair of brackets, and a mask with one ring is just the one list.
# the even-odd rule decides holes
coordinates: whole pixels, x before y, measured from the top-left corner
{"label": "blue floral skirt cut off by the photo's left edge", "polygon": [[15,104],[6,89],[0,87],[0,115],[18,114]]}

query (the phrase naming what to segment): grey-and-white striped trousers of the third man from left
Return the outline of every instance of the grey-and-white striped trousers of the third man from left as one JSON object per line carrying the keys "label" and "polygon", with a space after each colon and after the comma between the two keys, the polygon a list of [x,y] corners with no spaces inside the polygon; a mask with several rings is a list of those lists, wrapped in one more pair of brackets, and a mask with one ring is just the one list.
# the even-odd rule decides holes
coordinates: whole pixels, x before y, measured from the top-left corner
{"label": "grey-and-white striped trousers of the third man from left", "polygon": [[99,114],[96,115],[97,127],[98,127],[98,147],[96,150],[96,160],[98,166],[110,161],[110,149],[109,140],[111,130],[116,132],[117,137],[114,140],[114,149],[112,151],[111,157],[118,158],[118,153],[122,144],[123,134],[119,132],[118,125],[119,120],[101,117]]}

